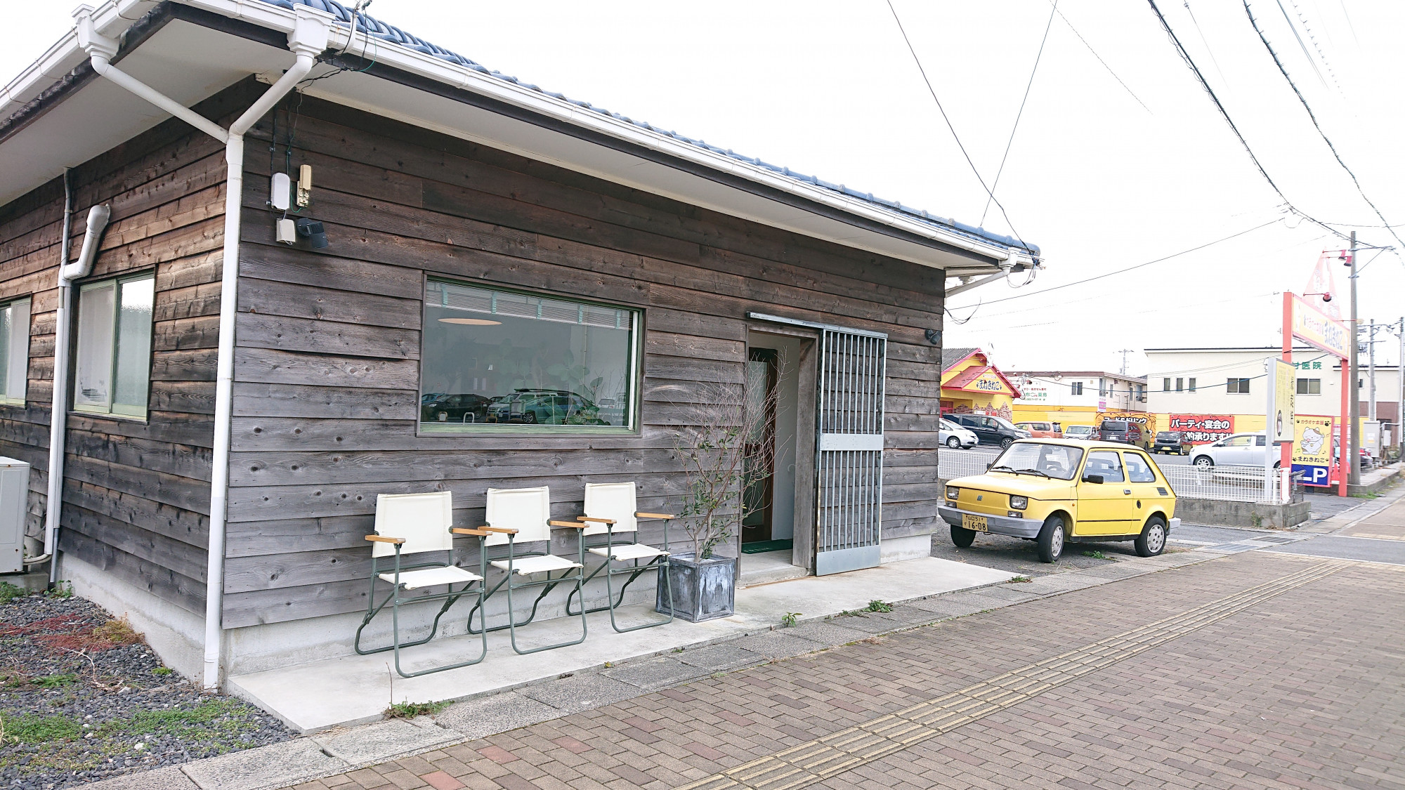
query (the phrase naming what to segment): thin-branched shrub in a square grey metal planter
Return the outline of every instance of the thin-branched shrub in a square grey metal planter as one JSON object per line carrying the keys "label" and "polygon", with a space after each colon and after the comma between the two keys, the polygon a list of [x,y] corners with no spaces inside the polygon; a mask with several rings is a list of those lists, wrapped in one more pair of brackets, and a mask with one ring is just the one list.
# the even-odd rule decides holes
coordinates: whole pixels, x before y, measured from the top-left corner
{"label": "thin-branched shrub in a square grey metal planter", "polygon": [[693,551],[669,555],[670,583],[658,585],[658,611],[667,614],[672,609],[674,617],[691,623],[735,611],[736,557],[715,550],[738,534],[756,506],[749,492],[771,474],[776,389],[767,387],[764,375],[747,375],[746,384],[688,387],[688,402],[677,403],[687,423],[673,440],[687,479],[679,523]]}

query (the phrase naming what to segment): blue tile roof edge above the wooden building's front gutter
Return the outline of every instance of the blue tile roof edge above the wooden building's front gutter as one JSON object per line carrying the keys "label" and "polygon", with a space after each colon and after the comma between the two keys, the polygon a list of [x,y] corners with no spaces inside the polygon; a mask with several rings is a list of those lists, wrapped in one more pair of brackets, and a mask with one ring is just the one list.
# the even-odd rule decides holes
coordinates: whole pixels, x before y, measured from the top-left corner
{"label": "blue tile roof edge above the wooden building's front gutter", "polygon": [[[288,10],[292,10],[294,6],[308,6],[308,7],[316,8],[319,11],[327,11],[327,13],[330,13],[337,20],[337,22],[340,22],[340,24],[346,24],[346,25],[351,24],[351,11],[347,10],[346,6],[337,3],[336,0],[263,0],[263,1],[268,3],[271,6],[280,6],[280,7],[288,8]],[[937,216],[936,214],[930,214],[930,212],[927,212],[924,209],[920,209],[920,208],[912,208],[912,207],[903,205],[903,204],[901,204],[898,201],[884,200],[881,197],[875,197],[873,193],[860,193],[858,190],[853,190],[850,187],[846,187],[844,184],[835,184],[835,183],[830,183],[830,181],[825,181],[823,179],[816,179],[815,176],[806,176],[804,173],[797,173],[795,170],[791,170],[790,167],[781,167],[778,164],[771,164],[770,162],[763,162],[760,159],[745,156],[745,155],[736,153],[735,150],[732,150],[729,148],[726,148],[726,149],[718,148],[715,145],[710,145],[710,143],[705,143],[702,141],[680,135],[680,134],[677,134],[674,131],[670,131],[670,129],[660,129],[659,127],[655,127],[652,124],[648,124],[648,122],[643,122],[643,121],[635,121],[635,119],[628,118],[625,115],[621,115],[618,112],[611,112],[611,111],[608,111],[608,110],[606,110],[603,107],[594,107],[589,101],[577,101],[575,98],[569,98],[569,97],[562,96],[559,93],[544,90],[544,89],[537,87],[537,86],[534,86],[531,83],[518,80],[517,77],[513,77],[510,75],[503,75],[503,73],[490,70],[486,66],[482,66],[482,65],[479,65],[479,63],[476,63],[473,60],[469,60],[468,58],[464,58],[462,55],[458,55],[455,52],[450,52],[448,49],[444,49],[443,46],[437,46],[434,44],[430,44],[429,41],[424,41],[423,38],[419,38],[416,35],[410,35],[410,34],[405,32],[403,30],[400,30],[398,27],[393,27],[393,25],[388,25],[388,24],[377,20],[375,17],[367,15],[365,13],[357,14],[357,32],[362,32],[362,31],[370,31],[370,34],[372,37],[379,38],[381,41],[388,41],[388,42],[392,42],[392,44],[399,44],[402,46],[407,46],[410,49],[416,49],[416,51],[423,52],[426,55],[430,55],[430,56],[434,56],[434,58],[440,58],[443,60],[448,60],[450,63],[458,63],[459,66],[465,66],[465,67],[482,72],[482,73],[485,73],[485,75],[488,75],[490,77],[495,77],[495,79],[499,79],[499,80],[503,80],[503,82],[509,82],[509,83],[525,87],[528,90],[534,90],[537,93],[541,93],[544,96],[559,98],[562,101],[569,101],[570,104],[575,104],[577,107],[583,107],[586,110],[592,110],[594,112],[600,112],[601,115],[608,115],[611,118],[624,121],[627,124],[634,124],[635,127],[639,127],[642,129],[649,129],[652,132],[656,132],[656,134],[673,138],[673,139],[676,139],[679,142],[684,142],[687,145],[693,145],[693,146],[697,146],[697,148],[701,148],[704,150],[710,150],[710,152],[714,152],[714,153],[721,153],[721,155],[728,156],[731,159],[736,159],[738,162],[746,162],[746,163],[754,164],[757,167],[764,167],[766,170],[771,170],[773,173],[780,173],[781,176],[785,176],[788,179],[794,179],[797,181],[804,181],[806,184],[813,184],[816,187],[823,187],[826,190],[832,190],[835,193],[839,193],[839,194],[843,194],[843,195],[849,195],[851,198],[858,198],[861,201],[871,202],[874,205],[881,205],[881,207],[884,207],[887,209],[901,212],[901,214],[903,214],[906,216],[919,219],[919,221],[926,222],[929,225],[940,226],[940,228],[943,228],[946,231],[955,231],[955,232],[962,233],[965,236],[969,236],[969,238],[974,238],[974,239],[979,239],[979,240],[984,240],[984,242],[995,242],[995,243],[1006,246],[1006,247],[1024,249],[1024,250],[1028,250],[1030,253],[1033,253],[1034,256],[1040,254],[1038,245],[1024,243],[1024,242],[1020,242],[1019,239],[1014,239],[1012,236],[1002,236],[999,233],[993,233],[991,231],[986,231],[985,228],[975,228],[975,226],[967,225],[964,222],[957,222],[955,219],[948,219],[946,216]]]}

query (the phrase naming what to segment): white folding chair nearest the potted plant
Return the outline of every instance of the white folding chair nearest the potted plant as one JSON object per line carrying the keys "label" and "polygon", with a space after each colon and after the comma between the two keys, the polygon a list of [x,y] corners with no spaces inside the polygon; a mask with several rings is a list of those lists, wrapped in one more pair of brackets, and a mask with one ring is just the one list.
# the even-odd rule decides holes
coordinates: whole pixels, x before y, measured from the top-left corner
{"label": "white folding chair nearest the potted plant", "polygon": [[[638,631],[639,628],[652,628],[655,626],[663,626],[673,621],[673,585],[669,583],[669,520],[673,519],[667,513],[641,513],[635,510],[636,496],[635,485],[632,482],[592,482],[586,484],[586,514],[577,516],[577,522],[590,524],[582,533],[582,537],[589,536],[606,536],[604,545],[587,547],[590,554],[604,558],[604,564],[590,572],[586,576],[586,582],[594,579],[601,571],[606,572],[606,604],[589,609],[586,611],[604,611],[610,610],[610,626],[624,634],[627,631]],[[663,548],[655,548],[652,545],[639,543],[639,519],[662,519],[663,520]],[[615,538],[624,538],[622,543]],[[643,559],[645,564],[639,565]],[[615,562],[632,562],[624,568],[617,568]],[[631,626],[628,628],[621,628],[615,621],[615,607],[624,603],[624,593],[629,585],[639,578],[641,574],[655,569],[659,571],[659,583],[669,590],[669,619],[658,620],[653,623],[643,623],[639,626]],[[620,597],[614,595],[614,578],[625,576],[629,579],[620,586]],[[575,596],[575,593],[572,593]],[[582,599],[582,603],[584,599]],[[575,614],[570,611],[570,597],[566,599],[566,614]]]}

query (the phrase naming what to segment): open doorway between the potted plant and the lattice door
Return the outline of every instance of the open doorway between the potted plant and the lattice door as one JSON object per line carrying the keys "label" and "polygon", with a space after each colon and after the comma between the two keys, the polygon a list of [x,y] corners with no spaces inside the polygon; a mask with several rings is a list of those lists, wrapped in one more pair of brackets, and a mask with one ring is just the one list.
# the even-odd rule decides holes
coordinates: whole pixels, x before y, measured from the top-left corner
{"label": "open doorway between the potted plant and the lattice door", "polygon": [[766,398],[764,425],[750,440],[776,444],[770,474],[746,491],[747,516],[739,537],[742,582],[749,585],[808,575],[813,568],[813,340],[781,332],[747,336],[749,389],[757,398],[773,395]]}

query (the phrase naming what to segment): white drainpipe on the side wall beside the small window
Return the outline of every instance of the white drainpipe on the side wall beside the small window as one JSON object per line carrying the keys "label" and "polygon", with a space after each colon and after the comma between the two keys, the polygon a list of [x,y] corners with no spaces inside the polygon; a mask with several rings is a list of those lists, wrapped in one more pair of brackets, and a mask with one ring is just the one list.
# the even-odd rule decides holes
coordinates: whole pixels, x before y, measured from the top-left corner
{"label": "white drainpipe on the side wall beside the small window", "polygon": [[63,512],[63,451],[67,433],[69,402],[69,326],[73,308],[73,281],[87,277],[97,260],[97,246],[112,216],[111,205],[89,209],[87,231],[79,259],[69,263],[69,235],[73,225],[73,186],[69,171],[63,171],[63,239],[59,243],[59,311],[53,326],[53,395],[49,401],[49,488],[44,514],[44,552],[49,555],[49,582],[58,581],[59,516]]}

